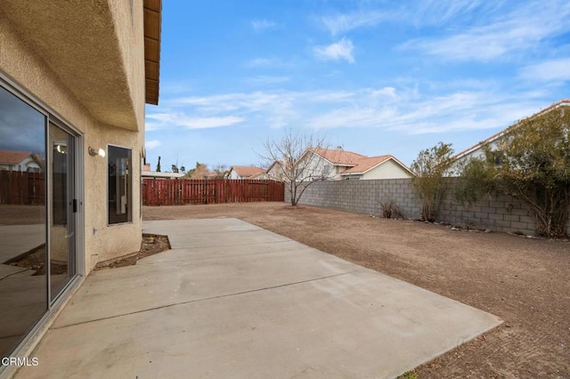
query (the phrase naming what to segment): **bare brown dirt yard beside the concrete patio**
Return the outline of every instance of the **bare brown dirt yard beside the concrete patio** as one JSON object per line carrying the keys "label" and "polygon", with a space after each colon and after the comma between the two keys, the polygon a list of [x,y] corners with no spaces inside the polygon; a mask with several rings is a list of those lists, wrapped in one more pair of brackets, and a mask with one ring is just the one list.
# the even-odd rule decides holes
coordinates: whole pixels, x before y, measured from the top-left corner
{"label": "bare brown dirt yard beside the concrete patio", "polygon": [[570,377],[568,241],[284,203],[143,207],[142,214],[144,220],[235,217],[504,320],[418,367],[419,378]]}

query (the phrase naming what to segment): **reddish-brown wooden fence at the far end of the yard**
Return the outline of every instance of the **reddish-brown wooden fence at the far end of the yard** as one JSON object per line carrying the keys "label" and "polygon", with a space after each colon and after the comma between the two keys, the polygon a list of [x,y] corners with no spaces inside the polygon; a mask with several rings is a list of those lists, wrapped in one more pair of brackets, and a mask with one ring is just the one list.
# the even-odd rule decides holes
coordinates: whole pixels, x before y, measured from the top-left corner
{"label": "reddish-brown wooden fence at the far end of the yard", "polygon": [[284,201],[281,181],[142,179],[143,206]]}

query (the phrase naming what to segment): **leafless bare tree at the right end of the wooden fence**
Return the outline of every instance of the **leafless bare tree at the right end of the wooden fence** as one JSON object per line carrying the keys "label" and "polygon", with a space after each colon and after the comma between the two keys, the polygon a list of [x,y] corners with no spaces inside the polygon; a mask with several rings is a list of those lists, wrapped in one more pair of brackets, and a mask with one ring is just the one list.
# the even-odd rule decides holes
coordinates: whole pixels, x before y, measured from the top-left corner
{"label": "leafless bare tree at the right end of the wooden fence", "polygon": [[315,181],[329,177],[331,165],[315,152],[327,148],[324,138],[294,133],[289,129],[280,140],[268,139],[264,143],[265,153],[258,155],[267,165],[278,162],[289,190],[291,206],[297,206],[305,189]]}

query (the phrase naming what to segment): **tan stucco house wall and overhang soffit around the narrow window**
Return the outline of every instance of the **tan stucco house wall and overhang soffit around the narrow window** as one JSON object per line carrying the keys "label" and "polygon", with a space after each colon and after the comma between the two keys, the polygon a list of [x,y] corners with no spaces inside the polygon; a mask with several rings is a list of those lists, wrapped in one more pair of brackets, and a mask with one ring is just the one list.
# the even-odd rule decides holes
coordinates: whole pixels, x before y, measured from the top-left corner
{"label": "tan stucco house wall and overhang soffit around the narrow window", "polygon": [[[97,262],[137,251],[141,243],[139,206],[133,207],[133,222],[107,225],[106,160],[90,157],[87,148],[112,144],[133,149],[132,179],[140,181],[145,96],[142,0],[134,1],[132,13],[128,1],[3,3],[0,69],[84,135],[89,272]],[[58,25],[46,13],[57,14]],[[134,185],[134,205],[139,191]]]}

